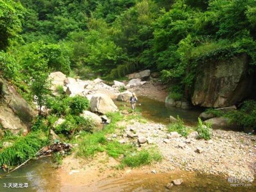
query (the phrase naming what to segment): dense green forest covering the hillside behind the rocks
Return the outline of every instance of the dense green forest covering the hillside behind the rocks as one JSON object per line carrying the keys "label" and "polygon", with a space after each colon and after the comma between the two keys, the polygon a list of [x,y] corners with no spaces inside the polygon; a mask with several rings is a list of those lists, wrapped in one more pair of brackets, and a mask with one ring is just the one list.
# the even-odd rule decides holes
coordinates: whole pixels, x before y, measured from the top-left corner
{"label": "dense green forest covering the hillside behind the rocks", "polygon": [[153,69],[184,87],[195,75],[187,67],[196,70],[207,59],[246,52],[253,69],[255,6],[253,0],[1,1],[1,70],[14,79],[18,71],[27,77],[31,63],[108,78]]}

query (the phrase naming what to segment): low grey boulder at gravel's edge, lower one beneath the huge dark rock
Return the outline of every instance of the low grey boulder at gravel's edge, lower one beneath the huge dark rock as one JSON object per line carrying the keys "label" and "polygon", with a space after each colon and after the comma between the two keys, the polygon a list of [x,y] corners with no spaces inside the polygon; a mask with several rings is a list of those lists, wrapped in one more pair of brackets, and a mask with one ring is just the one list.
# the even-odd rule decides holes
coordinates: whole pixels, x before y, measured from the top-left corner
{"label": "low grey boulder at gravel's edge, lower one beneath the huge dark rock", "polygon": [[227,117],[214,117],[204,121],[206,123],[211,123],[212,129],[237,129],[235,123],[230,123],[230,119]]}

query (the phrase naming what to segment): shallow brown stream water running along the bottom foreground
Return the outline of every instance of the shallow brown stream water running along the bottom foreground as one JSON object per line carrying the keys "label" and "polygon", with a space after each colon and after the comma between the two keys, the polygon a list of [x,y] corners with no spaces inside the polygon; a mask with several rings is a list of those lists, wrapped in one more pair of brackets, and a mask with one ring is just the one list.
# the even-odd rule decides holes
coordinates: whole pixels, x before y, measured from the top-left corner
{"label": "shallow brown stream water running along the bottom foreground", "polygon": [[[60,178],[55,173],[50,157],[32,161],[0,179],[0,191],[255,191],[256,183],[251,187],[230,187],[227,178],[215,175],[200,174],[197,172],[174,171],[171,173],[142,174],[133,173],[121,178],[106,178],[87,186],[61,185]],[[1,172],[3,174],[3,172]],[[180,186],[173,186],[171,190],[165,186],[174,179],[183,179]],[[3,188],[4,183],[27,183],[28,188]]]}

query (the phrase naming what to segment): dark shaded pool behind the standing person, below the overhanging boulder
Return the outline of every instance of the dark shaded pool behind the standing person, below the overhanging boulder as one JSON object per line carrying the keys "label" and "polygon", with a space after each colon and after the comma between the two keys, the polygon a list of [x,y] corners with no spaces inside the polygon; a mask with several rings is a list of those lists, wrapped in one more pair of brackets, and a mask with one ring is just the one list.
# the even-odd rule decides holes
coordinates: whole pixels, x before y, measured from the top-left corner
{"label": "dark shaded pool behind the standing person, below the overhanging boulder", "polygon": [[164,102],[138,97],[139,108],[142,116],[157,123],[168,124],[170,115],[179,116],[188,125],[196,125],[198,116],[203,112],[202,108],[180,109],[165,106]]}

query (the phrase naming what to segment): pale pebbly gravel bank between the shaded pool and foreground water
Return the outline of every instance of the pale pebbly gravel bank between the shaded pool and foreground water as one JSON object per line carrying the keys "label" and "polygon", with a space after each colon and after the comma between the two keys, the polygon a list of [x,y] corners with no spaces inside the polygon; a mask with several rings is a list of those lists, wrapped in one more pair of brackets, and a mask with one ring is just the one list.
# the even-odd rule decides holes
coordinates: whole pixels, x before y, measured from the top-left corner
{"label": "pale pebbly gravel bank between the shaded pool and foreground water", "polygon": [[[224,174],[238,178],[254,178],[256,173],[256,136],[243,132],[213,130],[209,141],[193,136],[170,137],[164,125],[153,122],[120,122],[126,126],[119,133],[120,142],[137,142],[145,138],[141,148],[157,146],[164,156],[156,167],[161,172],[175,169]],[[190,138],[189,138],[190,137]],[[169,139],[168,139],[169,138]]]}

